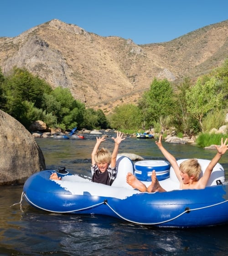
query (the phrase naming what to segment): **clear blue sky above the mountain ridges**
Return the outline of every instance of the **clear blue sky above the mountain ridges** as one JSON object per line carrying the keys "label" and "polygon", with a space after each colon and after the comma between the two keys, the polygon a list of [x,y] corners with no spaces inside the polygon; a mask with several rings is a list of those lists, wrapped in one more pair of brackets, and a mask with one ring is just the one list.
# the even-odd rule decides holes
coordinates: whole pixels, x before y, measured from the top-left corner
{"label": "clear blue sky above the mountain ridges", "polygon": [[0,37],[52,19],[136,44],[168,42],[228,19],[228,0],[2,0]]}

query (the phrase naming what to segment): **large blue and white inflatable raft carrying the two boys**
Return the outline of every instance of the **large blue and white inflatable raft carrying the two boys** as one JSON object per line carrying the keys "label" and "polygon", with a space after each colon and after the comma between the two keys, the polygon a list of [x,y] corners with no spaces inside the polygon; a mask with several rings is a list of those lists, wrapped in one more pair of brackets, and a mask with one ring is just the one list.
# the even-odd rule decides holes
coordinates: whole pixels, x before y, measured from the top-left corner
{"label": "large blue and white inflatable raft carrying the two boys", "polygon": [[[153,165],[152,162],[149,165]],[[205,171],[209,160],[199,162],[202,172]],[[108,215],[159,227],[228,223],[228,183],[224,182],[220,164],[213,169],[205,189],[179,190],[179,182],[171,168],[169,177],[160,181],[167,192],[155,193],[139,192],[126,183],[126,174],[134,172],[134,165],[123,156],[118,156],[118,176],[112,186],[93,183],[65,170],[56,171],[62,180],[50,180],[54,171],[40,171],[25,182],[23,196],[31,206],[53,213]],[[150,184],[150,181],[143,182]]]}

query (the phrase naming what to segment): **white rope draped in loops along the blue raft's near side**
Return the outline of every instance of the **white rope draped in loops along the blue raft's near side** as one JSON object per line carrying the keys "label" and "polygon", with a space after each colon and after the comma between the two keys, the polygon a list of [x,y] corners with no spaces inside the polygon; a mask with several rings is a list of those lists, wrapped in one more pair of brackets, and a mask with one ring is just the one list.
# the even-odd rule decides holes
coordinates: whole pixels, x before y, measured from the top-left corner
{"label": "white rope draped in loops along the blue raft's near side", "polygon": [[[19,203],[22,202],[23,197],[26,197],[26,194],[24,194],[24,192],[22,192],[22,194],[21,194],[21,201],[20,201]],[[47,209],[45,209],[45,208],[41,208],[41,207],[37,206],[36,204],[32,203],[32,202],[28,199],[28,197],[26,197],[26,199],[27,199],[28,202],[30,202],[30,203],[31,203],[32,205],[34,205],[35,207],[37,207],[37,208],[39,208],[39,209],[42,209],[42,210],[45,210],[45,211],[49,211],[49,210],[47,210]],[[137,222],[137,221],[133,221],[133,220],[130,220],[130,219],[127,219],[127,218],[123,217],[122,215],[120,215],[119,213],[117,213],[117,212],[108,204],[108,200],[107,200],[107,199],[105,199],[102,203],[97,203],[97,204],[94,204],[94,205],[91,205],[91,206],[88,206],[88,207],[85,207],[85,208],[81,208],[81,209],[77,209],[77,210],[72,210],[72,211],[64,211],[64,212],[57,212],[57,211],[55,211],[55,213],[73,213],[73,212],[79,212],[79,211],[88,210],[88,209],[90,209],[90,208],[94,208],[94,207],[97,207],[97,206],[99,206],[99,205],[105,204],[105,205],[107,205],[117,216],[119,216],[120,219],[124,219],[124,220],[129,221],[129,222],[134,223],[134,224],[141,224],[141,225],[158,225],[158,224],[163,224],[163,223],[166,223],[166,222],[170,222],[170,221],[172,221],[172,220],[174,220],[174,219],[177,219],[177,218],[181,217],[181,216],[182,216],[183,214],[185,214],[185,213],[190,213],[191,211],[197,211],[197,210],[202,210],[202,209],[205,209],[205,208],[214,207],[214,206],[217,206],[217,205],[219,205],[219,204],[223,204],[223,203],[227,203],[227,202],[228,202],[228,200],[223,201],[223,202],[220,202],[220,203],[215,203],[215,204],[212,204],[212,205],[207,205],[207,206],[200,207],[200,208],[194,208],[194,209],[186,208],[185,211],[183,211],[182,213],[176,215],[176,217],[173,217],[173,218],[171,218],[171,219],[167,219],[167,220],[164,220],[164,221],[161,221],[161,222],[153,222],[153,223]],[[19,203],[14,203],[14,204],[11,205],[11,206],[14,206],[14,205],[19,204]],[[10,207],[11,207],[11,206],[10,206]],[[50,211],[49,211],[49,212],[50,212]]]}

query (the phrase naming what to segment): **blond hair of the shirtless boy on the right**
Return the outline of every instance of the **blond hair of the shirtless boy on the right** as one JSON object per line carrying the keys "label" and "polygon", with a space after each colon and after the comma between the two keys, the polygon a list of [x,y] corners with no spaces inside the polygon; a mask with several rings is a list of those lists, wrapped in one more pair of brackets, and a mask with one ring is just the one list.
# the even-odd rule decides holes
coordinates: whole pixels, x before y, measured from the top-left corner
{"label": "blond hair of the shirtless boy on the right", "polygon": [[187,173],[189,177],[194,176],[193,181],[198,181],[202,170],[197,159],[188,159],[180,164],[180,171]]}

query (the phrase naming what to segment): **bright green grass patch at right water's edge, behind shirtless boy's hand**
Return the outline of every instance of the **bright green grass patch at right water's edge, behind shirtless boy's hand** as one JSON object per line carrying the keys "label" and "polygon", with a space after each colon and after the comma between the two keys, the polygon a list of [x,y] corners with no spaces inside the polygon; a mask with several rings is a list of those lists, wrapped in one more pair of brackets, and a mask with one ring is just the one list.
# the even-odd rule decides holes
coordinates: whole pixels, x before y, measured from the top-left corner
{"label": "bright green grass patch at right water's edge, behind shirtless boy's hand", "polygon": [[221,145],[221,139],[227,138],[228,134],[215,133],[200,133],[197,137],[197,145],[200,147],[209,147],[211,145]]}

